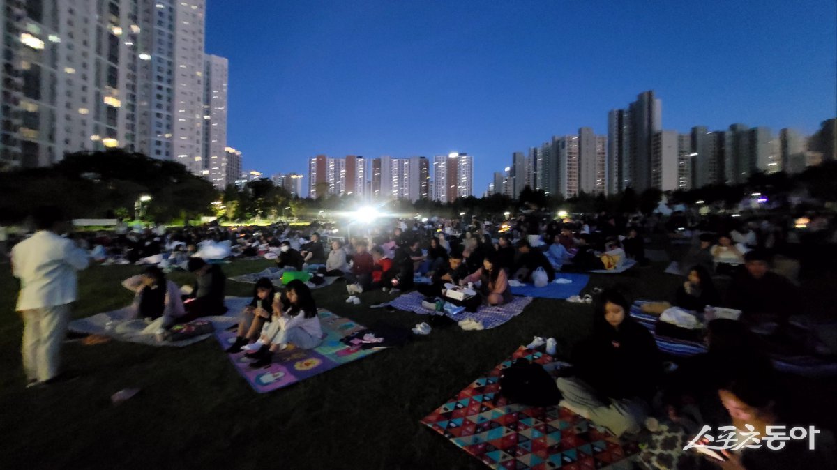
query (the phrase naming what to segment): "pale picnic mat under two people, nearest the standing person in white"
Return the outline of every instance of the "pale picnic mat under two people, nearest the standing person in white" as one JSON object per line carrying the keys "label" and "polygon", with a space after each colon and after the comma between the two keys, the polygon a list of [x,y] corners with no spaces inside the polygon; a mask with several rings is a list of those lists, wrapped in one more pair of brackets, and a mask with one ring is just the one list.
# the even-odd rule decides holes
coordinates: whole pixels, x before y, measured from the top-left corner
{"label": "pale picnic mat under two people, nearest the standing person in white", "polygon": [[[244,309],[244,305],[249,304],[250,300],[252,299],[249,297],[227,297],[224,299],[224,304],[229,309],[226,315],[201,317],[200,319],[211,322],[215,330],[229,328],[239,322],[239,312]],[[103,314],[95,314],[84,319],[75,319],[69,322],[67,328],[75,333],[104,335],[118,341],[128,341],[150,346],[182,347],[206,340],[212,335],[208,333],[187,340],[158,341],[157,336],[153,332],[142,332],[148,326],[145,319],[129,319],[130,314],[131,308],[125,307]]]}

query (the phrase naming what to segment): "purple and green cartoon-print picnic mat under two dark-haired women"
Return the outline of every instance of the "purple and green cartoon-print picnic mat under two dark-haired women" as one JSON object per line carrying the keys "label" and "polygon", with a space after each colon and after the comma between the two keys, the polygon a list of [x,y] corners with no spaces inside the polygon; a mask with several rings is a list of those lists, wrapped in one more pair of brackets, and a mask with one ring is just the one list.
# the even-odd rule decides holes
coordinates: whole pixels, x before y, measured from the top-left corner
{"label": "purple and green cartoon-print picnic mat under two dark-haired women", "polygon": [[[319,314],[324,339],[322,344],[313,350],[296,348],[287,352],[277,352],[273,355],[273,364],[264,369],[250,369],[251,360],[244,355],[244,352],[229,354],[229,359],[233,361],[235,369],[239,371],[239,374],[244,375],[254,391],[259,393],[275,391],[382,349],[363,350],[359,345],[344,345],[340,342],[341,338],[364,330],[365,327],[327,310],[320,309]],[[235,332],[216,330],[215,337],[218,338],[221,347],[227,349],[235,341]]]}

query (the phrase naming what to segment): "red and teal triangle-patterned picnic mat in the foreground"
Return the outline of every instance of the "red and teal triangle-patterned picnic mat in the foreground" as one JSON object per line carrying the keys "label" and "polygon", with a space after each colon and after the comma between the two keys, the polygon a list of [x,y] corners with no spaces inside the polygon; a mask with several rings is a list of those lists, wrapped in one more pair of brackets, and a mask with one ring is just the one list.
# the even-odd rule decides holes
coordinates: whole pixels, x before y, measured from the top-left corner
{"label": "red and teal triangle-patterned picnic mat in the foreground", "polygon": [[639,452],[561,406],[525,406],[496,398],[501,370],[517,358],[552,357],[521,346],[510,359],[465,387],[421,422],[491,468],[632,468]]}

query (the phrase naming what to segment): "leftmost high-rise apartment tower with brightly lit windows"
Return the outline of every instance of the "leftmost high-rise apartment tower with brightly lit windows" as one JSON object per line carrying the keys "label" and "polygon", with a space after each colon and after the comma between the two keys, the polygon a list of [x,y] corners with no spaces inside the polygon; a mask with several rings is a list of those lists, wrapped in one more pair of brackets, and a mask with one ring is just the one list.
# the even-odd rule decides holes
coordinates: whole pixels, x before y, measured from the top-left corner
{"label": "leftmost high-rise apartment tower with brightly lit windows", "polygon": [[136,0],[0,0],[0,167],[136,145]]}

